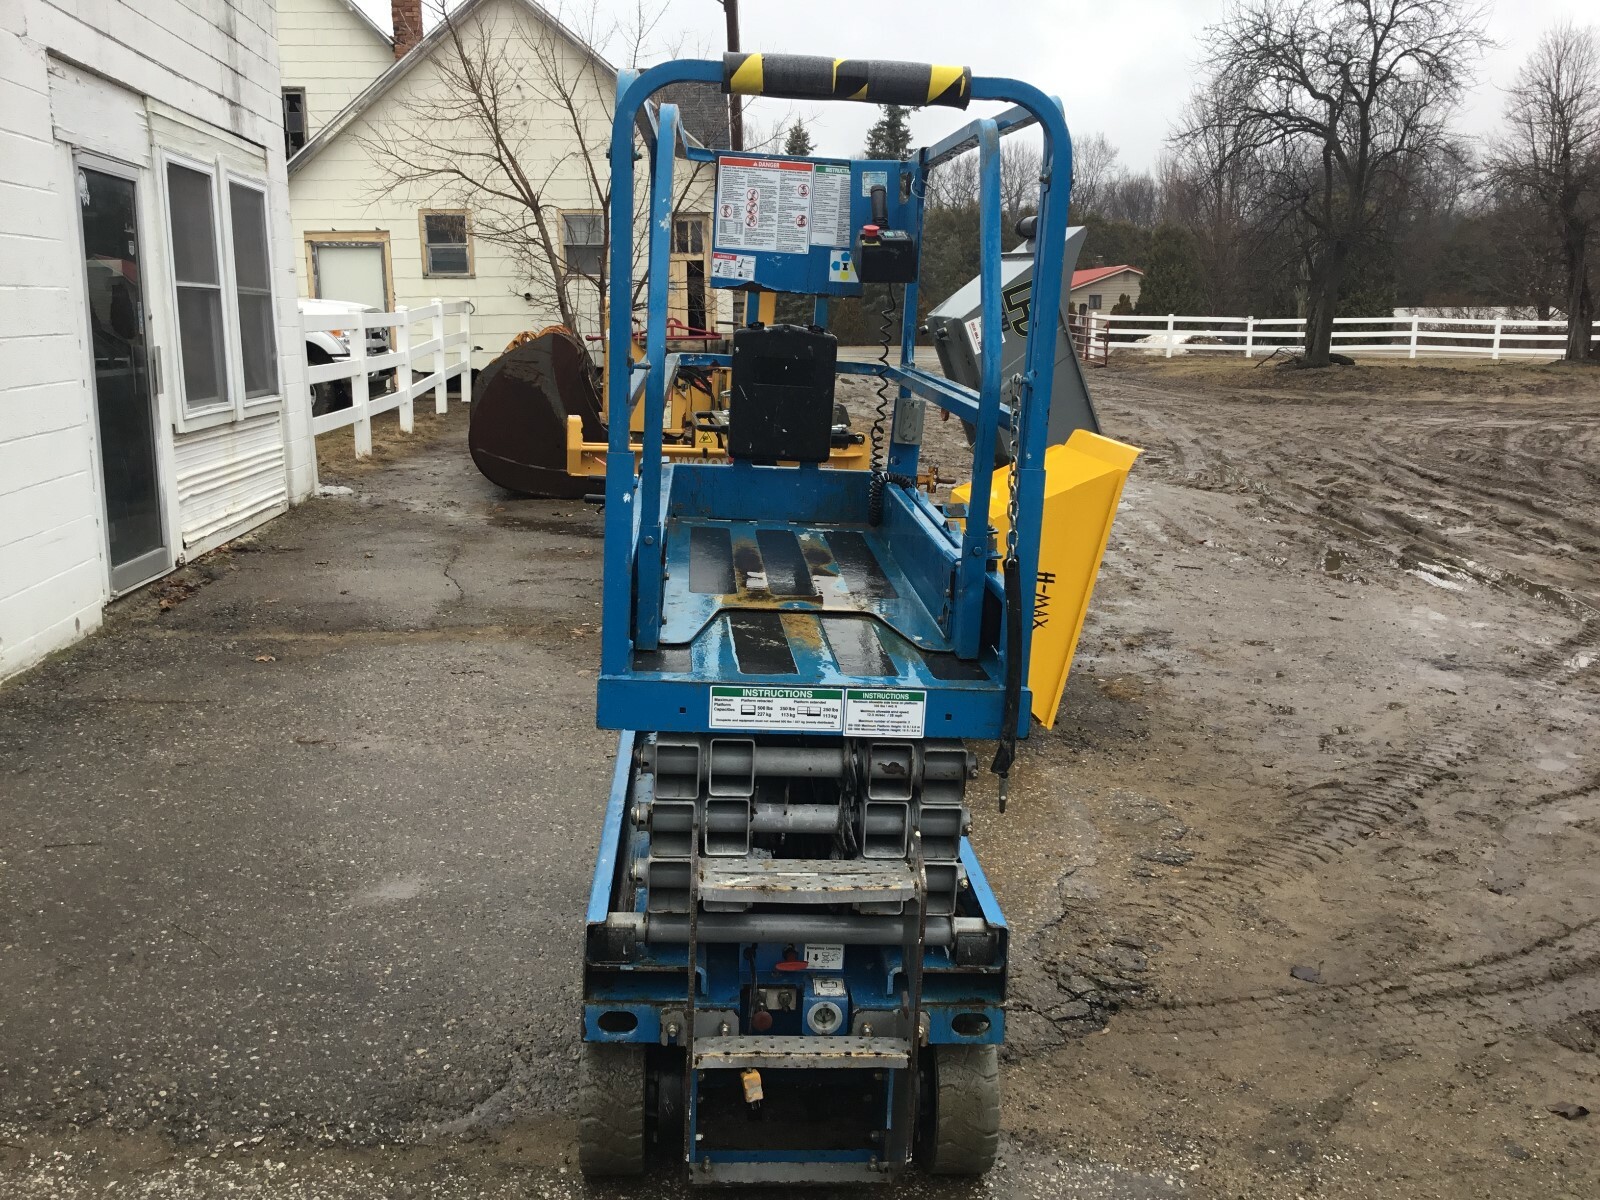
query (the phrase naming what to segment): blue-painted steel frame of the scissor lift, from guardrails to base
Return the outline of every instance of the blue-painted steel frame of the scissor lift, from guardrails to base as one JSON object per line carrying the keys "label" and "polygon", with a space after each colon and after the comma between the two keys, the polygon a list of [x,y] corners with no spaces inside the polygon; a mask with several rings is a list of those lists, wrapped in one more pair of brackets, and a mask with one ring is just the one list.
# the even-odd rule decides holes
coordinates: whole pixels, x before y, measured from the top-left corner
{"label": "blue-painted steel frame of the scissor lift, from guardrails to base", "polygon": [[[866,510],[866,472],[835,472],[816,467],[758,467],[752,464],[680,464],[661,466],[661,414],[667,386],[680,365],[726,365],[725,355],[667,355],[667,261],[672,226],[672,166],[674,155],[682,147],[688,157],[712,162],[714,154],[699,147],[683,146],[677,109],[659,107],[646,136],[650,152],[650,254],[648,254],[648,323],[645,334],[645,362],[634,366],[629,362],[632,339],[632,314],[627,299],[632,294],[634,269],[634,131],[645,101],[658,90],[672,83],[699,82],[720,85],[722,64],[717,61],[682,61],[653,67],[643,74],[622,72],[618,80],[618,104],[611,138],[611,296],[608,314],[606,387],[611,413],[610,445],[606,454],[606,509],[605,509],[605,590],[603,629],[600,650],[598,717],[600,723],[622,730],[618,741],[616,766],[611,779],[605,827],[595,875],[589,896],[587,925],[590,941],[606,926],[618,896],[629,894],[629,880],[635,864],[650,853],[650,834],[629,826],[632,802],[634,765],[643,734],[650,731],[706,731],[706,688],[717,682],[725,666],[707,656],[694,664],[698,682],[686,683],[659,672],[635,667],[635,650],[654,650],[662,630],[662,566],[667,554],[666,522],[667,506],[677,501],[682,507],[702,514],[738,510],[746,520],[784,520],[798,515],[803,522],[859,522]],[[909,232],[920,238],[923,219],[923,194],[928,171],[976,146],[979,154],[979,216],[982,240],[982,328],[1002,328],[1000,298],[1000,136],[1038,123],[1043,126],[1043,170],[1040,181],[1040,235],[1034,262],[1034,296],[1037,312],[1053,314],[1061,306],[1061,264],[1067,229],[1067,181],[1072,174],[1072,152],[1061,104],[1030,85],[1003,78],[974,77],[971,96],[979,101],[1010,101],[994,118],[979,118],[958,133],[926,147],[906,166],[912,176],[912,202],[906,205]],[[1059,181],[1059,182],[1058,182]],[[752,298],[754,302],[754,298]],[[994,445],[998,429],[1018,430],[1018,554],[1024,579],[1037,574],[1038,526],[1043,506],[1043,453],[1050,411],[1050,387],[1053,379],[1054,322],[1032,322],[1027,339],[1026,370],[1013,381],[1014,405],[1002,403],[1000,355],[982,357],[979,390],[971,390],[941,376],[920,370],[914,360],[917,336],[917,285],[906,285],[902,312],[901,357],[896,365],[842,362],[842,374],[880,376],[898,389],[898,405],[912,397],[970,421],[976,427],[973,451],[973,491],[970,512],[989,512],[989,491],[994,475]],[[816,298],[816,320],[826,323],[827,298]],[[1037,336],[1035,336],[1037,334]],[[998,336],[995,333],[995,336]],[[643,445],[638,469],[629,448],[629,421],[624,414],[635,402],[643,402]],[[899,429],[896,421],[894,429]],[[918,446],[909,442],[893,442],[888,446],[888,470],[914,475],[917,472]],[[730,502],[738,498],[736,504]],[[941,619],[941,637],[950,650],[965,659],[984,666],[984,677],[965,682],[939,682],[918,677],[923,666],[898,662],[901,675],[912,686],[928,693],[930,736],[941,738],[992,738],[1000,733],[1002,693],[1008,654],[1022,654],[1024,677],[1032,630],[1032,592],[1024,598],[1024,642],[1021,646],[986,645],[984,606],[1003,595],[998,570],[990,547],[990,531],[984,520],[968,520],[955,533],[944,514],[936,510],[926,496],[912,490],[890,488],[882,526],[883,538],[893,547],[894,570],[914,582],[955,579],[955,597],[949,619]],[[890,566],[885,563],[885,566]],[[914,634],[915,635],[915,634]],[[992,637],[992,635],[990,635]],[[851,680],[838,677],[837,667],[821,661],[797,662],[802,677],[811,683],[838,685]],[[810,675],[806,675],[810,672]],[[832,674],[829,674],[832,672]],[[883,686],[882,680],[869,686]],[[1026,733],[1029,712],[1024,694],[1018,733]],[[944,720],[938,720],[942,710]],[[978,915],[1000,938],[992,963],[986,968],[958,968],[949,949],[926,950],[923,957],[922,1011],[928,1016],[928,1042],[949,1043],[998,1043],[1005,1038],[1005,963],[1006,926],[978,856],[966,838],[960,843],[962,866],[968,888],[963,891],[962,910]],[[635,890],[635,910],[646,904],[643,890]],[[770,950],[771,947],[766,947]],[[902,970],[899,947],[877,947],[878,970],[896,973]],[[730,987],[738,992],[738,971],[733,979],[717,968],[706,947],[694,963],[696,989],[707,1003],[728,1002]],[[640,946],[627,963],[606,963],[590,958],[586,963],[584,981],[584,1040],[626,1042],[658,1045],[662,1042],[662,1013],[682,1008],[685,1002],[685,976],[690,971],[685,946]],[[870,992],[870,982],[861,974],[861,962],[846,970],[850,976],[851,1003],[862,1011],[875,1003],[861,1005],[861,997]],[[882,990],[882,976],[872,976]],[[882,997],[878,997],[882,998]],[[629,1013],[635,1021],[608,1021],[602,1016]],[[954,1027],[957,1014],[981,1013],[987,1018],[981,1029],[965,1026],[968,1032]],[[622,1027],[630,1026],[630,1027]],[[890,1082],[894,1086],[894,1082]],[[893,1101],[886,1101],[891,1104]],[[691,1126],[694,1122],[694,1093],[688,1096]],[[818,1182],[864,1181],[875,1178],[875,1155],[867,1150],[848,1152],[702,1152],[690,1144],[690,1160],[706,1166],[707,1179],[717,1181],[720,1170],[738,1171],[741,1165],[765,1165],[778,1162],[803,1163],[806,1174]],[[738,1179],[738,1174],[730,1178]]]}

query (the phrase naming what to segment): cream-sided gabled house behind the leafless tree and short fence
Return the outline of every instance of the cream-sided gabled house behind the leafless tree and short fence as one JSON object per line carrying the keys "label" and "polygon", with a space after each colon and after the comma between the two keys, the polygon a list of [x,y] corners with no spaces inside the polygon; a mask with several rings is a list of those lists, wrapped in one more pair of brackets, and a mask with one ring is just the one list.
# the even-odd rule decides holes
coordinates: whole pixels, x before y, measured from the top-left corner
{"label": "cream-sided gabled house behind the leafless tree and short fence", "polygon": [[[381,309],[466,298],[480,347],[474,366],[482,368],[523,330],[560,322],[552,282],[560,274],[570,280],[579,333],[595,333],[600,298],[586,277],[597,275],[602,261],[616,69],[534,0],[464,0],[451,10],[453,27],[437,22],[414,48],[419,0],[394,0],[402,37],[392,54],[384,34],[347,0],[280,0],[280,10],[285,30],[301,30],[285,32],[282,54],[285,120],[298,144],[290,210],[302,294]],[[507,104],[501,128],[515,142],[518,168],[536,181],[554,267],[528,205],[418,170],[422,160],[434,168],[451,163],[458,152],[472,155],[464,165],[477,170],[475,155],[488,144],[480,126],[450,115],[464,99],[456,37],[469,56],[486,53],[488,70],[499,72]],[[328,114],[347,93],[349,104]],[[715,130],[694,122],[720,112],[725,139],[720,98],[693,99],[701,102],[685,104],[690,133],[715,141]],[[304,130],[294,128],[301,114]],[[400,155],[414,155],[414,178],[395,179]],[[672,309],[685,325],[709,328],[718,314],[731,314],[726,293],[709,286],[712,171],[680,158],[675,184]],[[493,235],[518,224],[531,253]]]}

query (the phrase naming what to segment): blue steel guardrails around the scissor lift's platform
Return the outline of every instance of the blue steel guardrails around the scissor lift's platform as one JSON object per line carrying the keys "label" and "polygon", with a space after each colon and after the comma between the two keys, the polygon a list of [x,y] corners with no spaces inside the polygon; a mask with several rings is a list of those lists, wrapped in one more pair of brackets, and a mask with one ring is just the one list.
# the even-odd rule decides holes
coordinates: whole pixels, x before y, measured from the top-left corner
{"label": "blue steel guardrails around the scissor lift's platform", "polygon": [[[818,472],[814,469],[750,469],[746,464],[678,466],[662,469],[661,464],[661,411],[667,382],[680,362],[720,363],[717,355],[667,355],[667,261],[672,232],[672,166],[682,144],[682,126],[677,107],[659,106],[653,120],[650,141],[650,226],[648,226],[648,286],[646,286],[646,334],[645,362],[634,366],[629,362],[632,338],[632,314],[626,298],[632,294],[634,280],[634,133],[645,102],[661,88],[674,83],[722,83],[722,62],[712,59],[688,59],[666,62],[643,74],[622,72],[618,78],[618,104],[611,133],[611,294],[624,302],[610,306],[606,344],[608,408],[614,414],[610,424],[606,454],[606,509],[605,509],[605,584],[602,600],[602,643],[598,717],[610,728],[629,730],[698,730],[704,722],[696,714],[706,712],[706,686],[712,678],[686,683],[669,680],[653,672],[635,669],[635,650],[654,650],[662,619],[662,563],[666,552],[664,514],[667,496],[674,486],[674,474],[757,470],[760,480],[742,475],[738,483],[741,494],[749,494],[749,485],[770,488],[784,496],[789,512],[816,514],[816,520],[840,520],[840,490],[850,485],[822,482],[822,475],[861,472]],[[1061,306],[1061,266],[1067,230],[1067,205],[1072,178],[1072,142],[1062,117],[1061,102],[1029,83],[1008,78],[974,77],[971,96],[976,101],[1005,101],[1014,107],[992,118],[979,118],[931,147],[918,150],[907,163],[912,173],[912,203],[907,205],[910,232],[920,235],[922,195],[926,174],[947,158],[976,146],[979,154],[979,219],[982,242],[982,326],[987,331],[1002,328],[1000,298],[1000,136],[1037,123],[1043,130],[1043,158],[1040,173],[1038,238],[1034,259],[1035,312],[1056,312]],[[714,160],[715,155],[691,149],[690,157]],[[826,312],[826,298],[818,299],[819,312]],[[898,402],[910,397],[931,402],[946,411],[970,421],[976,427],[973,451],[973,488],[970,512],[989,512],[989,493],[994,475],[994,443],[1000,427],[1018,430],[1018,557],[1021,578],[1034,579],[1038,570],[1038,533],[1043,507],[1045,472],[1043,454],[1050,413],[1050,389],[1053,381],[1054,322],[1032,322],[1027,338],[1026,366],[1011,382],[1013,405],[1002,403],[1000,355],[982,355],[982,381],[979,390],[962,387],[949,379],[920,370],[915,365],[917,285],[906,285],[901,360],[898,365],[840,363],[840,373],[883,376],[898,387]],[[995,334],[997,336],[997,334]],[[643,392],[643,446],[638,470],[629,450],[629,421],[621,414],[630,411]],[[898,427],[898,424],[896,424]],[[914,443],[891,442],[888,469],[896,474],[915,474],[918,448]],[[781,472],[765,475],[765,472]],[[683,480],[688,483],[688,480]],[[696,480],[696,488],[717,491],[733,486]],[[931,560],[938,570],[954,568],[957,578],[949,648],[963,659],[986,659],[989,678],[978,685],[928,688],[928,706],[933,712],[944,704],[947,722],[941,723],[941,736],[994,738],[1000,733],[1000,680],[1010,654],[1022,654],[1024,678],[1027,654],[1032,643],[1034,595],[1024,597],[1022,645],[982,645],[986,595],[1003,594],[1000,573],[990,552],[990,531],[984,520],[968,520],[958,542],[949,533],[941,514],[934,512],[925,498],[907,498],[899,488],[890,490],[898,498],[891,506],[899,512],[902,528],[922,534],[920,546],[907,546],[907,555]],[[821,507],[813,507],[821,506]],[[832,514],[832,515],[824,515]],[[899,552],[901,542],[896,542]],[[882,680],[862,680],[869,686],[882,686]],[[1019,706],[1018,733],[1027,731],[1027,698]]]}

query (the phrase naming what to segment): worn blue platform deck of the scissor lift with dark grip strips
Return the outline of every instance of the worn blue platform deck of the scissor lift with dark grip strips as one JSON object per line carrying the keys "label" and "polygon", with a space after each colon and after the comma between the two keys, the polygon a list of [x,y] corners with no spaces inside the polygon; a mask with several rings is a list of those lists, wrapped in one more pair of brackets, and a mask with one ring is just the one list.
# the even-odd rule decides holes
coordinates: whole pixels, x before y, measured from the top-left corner
{"label": "worn blue platform deck of the scissor lift with dark grip strips", "polygon": [[[917,736],[998,736],[1003,664],[992,643],[958,653],[963,534],[925,496],[890,496],[874,526],[778,515],[786,496],[792,510],[864,510],[866,472],[683,464],[662,485],[661,624],[654,646],[635,638],[602,675],[602,725],[645,726],[648,712],[658,731],[706,730],[712,686],[805,685],[912,691],[926,712]],[[997,579],[992,539],[981,546]],[[973,610],[997,624],[998,587]]]}

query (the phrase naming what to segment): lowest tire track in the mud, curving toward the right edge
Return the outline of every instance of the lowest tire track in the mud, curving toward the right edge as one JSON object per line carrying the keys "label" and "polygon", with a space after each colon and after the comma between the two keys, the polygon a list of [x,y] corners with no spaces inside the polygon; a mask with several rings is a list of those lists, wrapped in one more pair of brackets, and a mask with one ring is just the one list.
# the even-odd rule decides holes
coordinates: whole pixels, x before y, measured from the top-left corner
{"label": "lowest tire track in the mud, curving toward the right edge", "polygon": [[1309,984],[1296,990],[1186,1000],[1168,997],[1125,1011],[1118,1032],[1189,1034],[1219,1040],[1264,1029],[1315,1027],[1330,1013],[1352,1024],[1382,1018],[1379,1035],[1408,1029],[1459,1042],[1464,1029],[1541,1027],[1600,1005],[1600,917],[1562,926],[1502,954],[1390,979]]}

